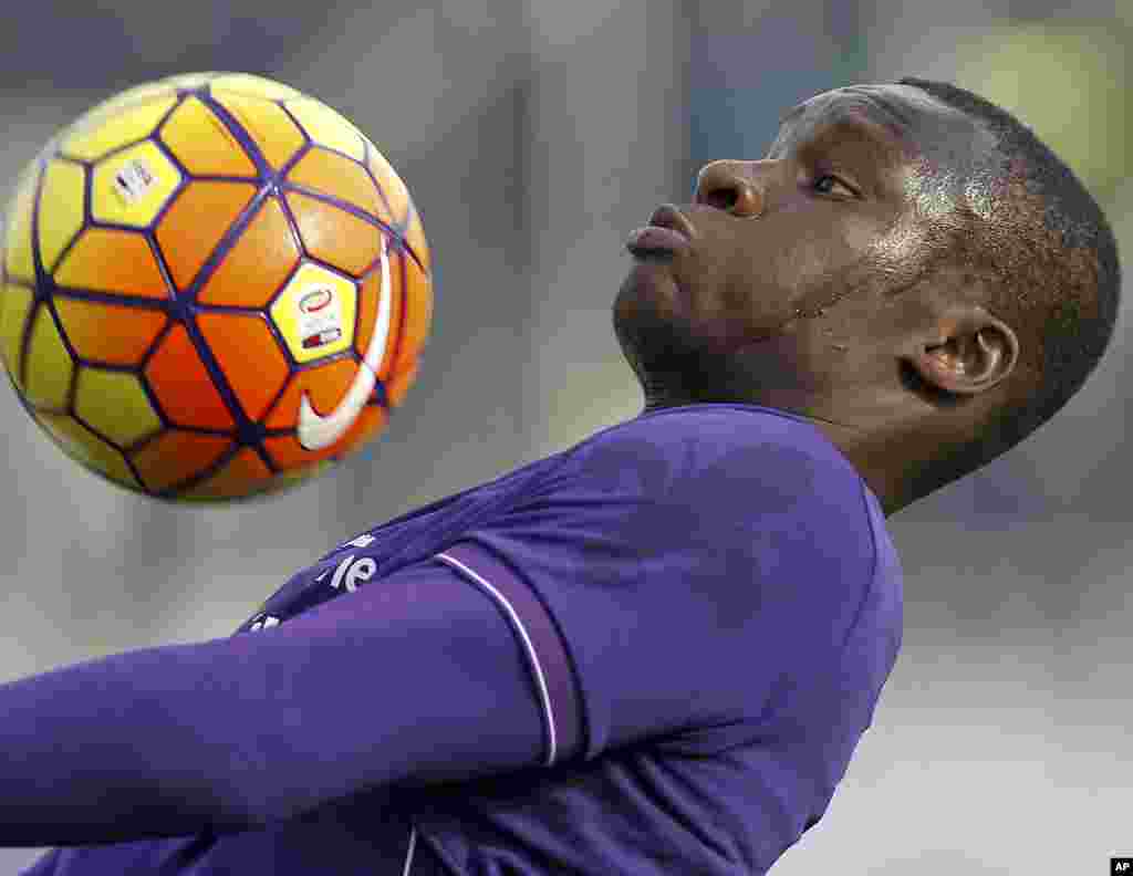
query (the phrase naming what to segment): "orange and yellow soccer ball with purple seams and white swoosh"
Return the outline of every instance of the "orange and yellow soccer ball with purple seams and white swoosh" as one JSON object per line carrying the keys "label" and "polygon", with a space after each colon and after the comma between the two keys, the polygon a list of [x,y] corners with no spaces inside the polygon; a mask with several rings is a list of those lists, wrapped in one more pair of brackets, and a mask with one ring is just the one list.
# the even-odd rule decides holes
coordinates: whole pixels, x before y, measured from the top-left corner
{"label": "orange and yellow soccer ball with purple seams and white swoosh", "polygon": [[381,433],[433,308],[404,184],[316,100],[247,74],[95,107],[7,211],[0,351],[74,459],[169,500],[286,487]]}

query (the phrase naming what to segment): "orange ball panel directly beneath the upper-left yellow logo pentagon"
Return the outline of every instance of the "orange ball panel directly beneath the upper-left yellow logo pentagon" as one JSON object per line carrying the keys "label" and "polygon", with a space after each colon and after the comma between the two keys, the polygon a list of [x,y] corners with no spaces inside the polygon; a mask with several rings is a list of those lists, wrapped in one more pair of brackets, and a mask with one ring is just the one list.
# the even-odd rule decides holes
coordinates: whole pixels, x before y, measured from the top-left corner
{"label": "orange ball panel directly beneath the upper-left yellow logo pentagon", "polygon": [[110,228],[86,229],[56,270],[56,282],[71,289],[170,297],[150,241]]}

